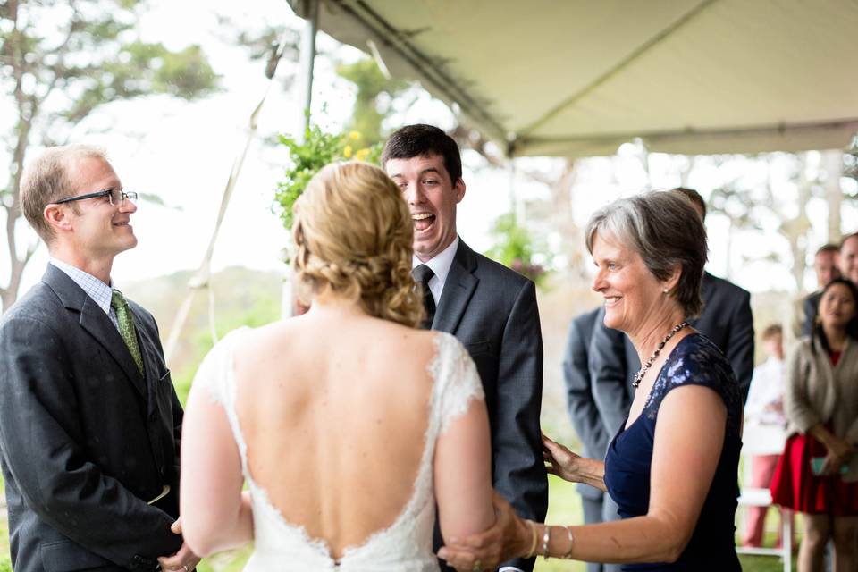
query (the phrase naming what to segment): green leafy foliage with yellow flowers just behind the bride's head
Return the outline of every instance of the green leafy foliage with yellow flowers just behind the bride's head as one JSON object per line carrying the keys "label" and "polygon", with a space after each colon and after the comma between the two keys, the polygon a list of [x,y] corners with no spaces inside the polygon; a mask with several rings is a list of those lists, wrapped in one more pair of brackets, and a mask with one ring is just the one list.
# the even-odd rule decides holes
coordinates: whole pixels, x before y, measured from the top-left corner
{"label": "green leafy foliage with yellow flowers just behind the bride's head", "polygon": [[289,165],[283,172],[282,181],[277,183],[274,194],[274,208],[280,212],[283,225],[292,226],[292,206],[307,189],[307,183],[322,170],[324,165],[337,161],[366,161],[377,164],[382,153],[381,143],[373,147],[356,149],[355,143],[360,133],[325,133],[317,125],[311,125],[304,133],[304,141],[299,142],[288,135],[281,135],[280,143],[289,149]]}

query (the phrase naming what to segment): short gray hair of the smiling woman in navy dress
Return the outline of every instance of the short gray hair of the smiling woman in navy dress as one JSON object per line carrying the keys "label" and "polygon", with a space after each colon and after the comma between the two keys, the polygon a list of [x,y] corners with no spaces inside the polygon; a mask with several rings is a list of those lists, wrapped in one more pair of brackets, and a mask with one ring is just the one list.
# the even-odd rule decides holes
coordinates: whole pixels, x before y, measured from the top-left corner
{"label": "short gray hair of the smiling woman in navy dress", "polygon": [[679,266],[674,297],[686,317],[700,314],[700,285],[706,265],[706,229],[685,195],[654,190],[620,198],[603,206],[587,223],[587,250],[593,254],[597,232],[610,234],[641,256],[658,280],[667,280]]}

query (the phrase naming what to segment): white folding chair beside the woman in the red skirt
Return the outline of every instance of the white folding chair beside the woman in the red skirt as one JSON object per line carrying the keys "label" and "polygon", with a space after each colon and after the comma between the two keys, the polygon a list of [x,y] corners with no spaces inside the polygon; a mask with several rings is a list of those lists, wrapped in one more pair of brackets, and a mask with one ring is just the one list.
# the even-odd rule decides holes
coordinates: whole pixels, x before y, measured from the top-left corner
{"label": "white folding chair beside the woman in the red skirt", "polygon": [[[754,455],[780,455],[784,450],[787,435],[776,425],[750,425],[744,427],[742,436],[742,456],[744,457],[744,476],[742,489],[739,492],[740,507],[770,507],[771,493],[769,489],[748,486],[751,482],[751,457]],[[743,517],[747,525],[747,516]],[[793,568],[793,513],[790,509],[781,512],[781,546],[780,548],[751,548],[736,546],[739,554],[760,554],[763,556],[779,556],[784,562],[784,572]]]}

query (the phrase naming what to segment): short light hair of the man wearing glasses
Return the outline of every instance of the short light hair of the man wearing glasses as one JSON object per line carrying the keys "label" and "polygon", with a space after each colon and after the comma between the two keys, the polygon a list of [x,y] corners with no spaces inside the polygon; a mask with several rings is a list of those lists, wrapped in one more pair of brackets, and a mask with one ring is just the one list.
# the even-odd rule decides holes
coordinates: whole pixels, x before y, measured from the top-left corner
{"label": "short light hair of the man wearing glasses", "polygon": [[[54,240],[54,231],[45,220],[45,207],[76,192],[75,163],[85,158],[107,161],[105,150],[100,147],[48,147],[21,172],[21,211],[33,230],[47,243]],[[77,212],[74,203],[71,203],[71,209]]]}

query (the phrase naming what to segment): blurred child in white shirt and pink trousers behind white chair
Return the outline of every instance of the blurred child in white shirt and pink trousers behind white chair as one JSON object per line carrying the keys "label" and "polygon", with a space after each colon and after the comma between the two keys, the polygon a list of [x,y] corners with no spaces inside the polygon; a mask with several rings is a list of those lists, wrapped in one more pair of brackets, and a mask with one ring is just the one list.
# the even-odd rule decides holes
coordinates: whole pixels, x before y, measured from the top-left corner
{"label": "blurred child in white shirt and pink trousers behind white chair", "polygon": [[[782,432],[787,425],[784,416],[784,332],[779,324],[772,324],[763,330],[762,348],[767,359],[753,369],[751,391],[744,405],[745,443],[753,439],[754,428],[767,427]],[[771,475],[778,466],[778,458],[780,455],[754,455],[751,458],[751,481],[747,485],[768,489]],[[748,507],[748,520],[742,539],[744,546],[762,545],[767,512],[768,507]],[[776,546],[781,543],[780,530],[778,526]]]}

